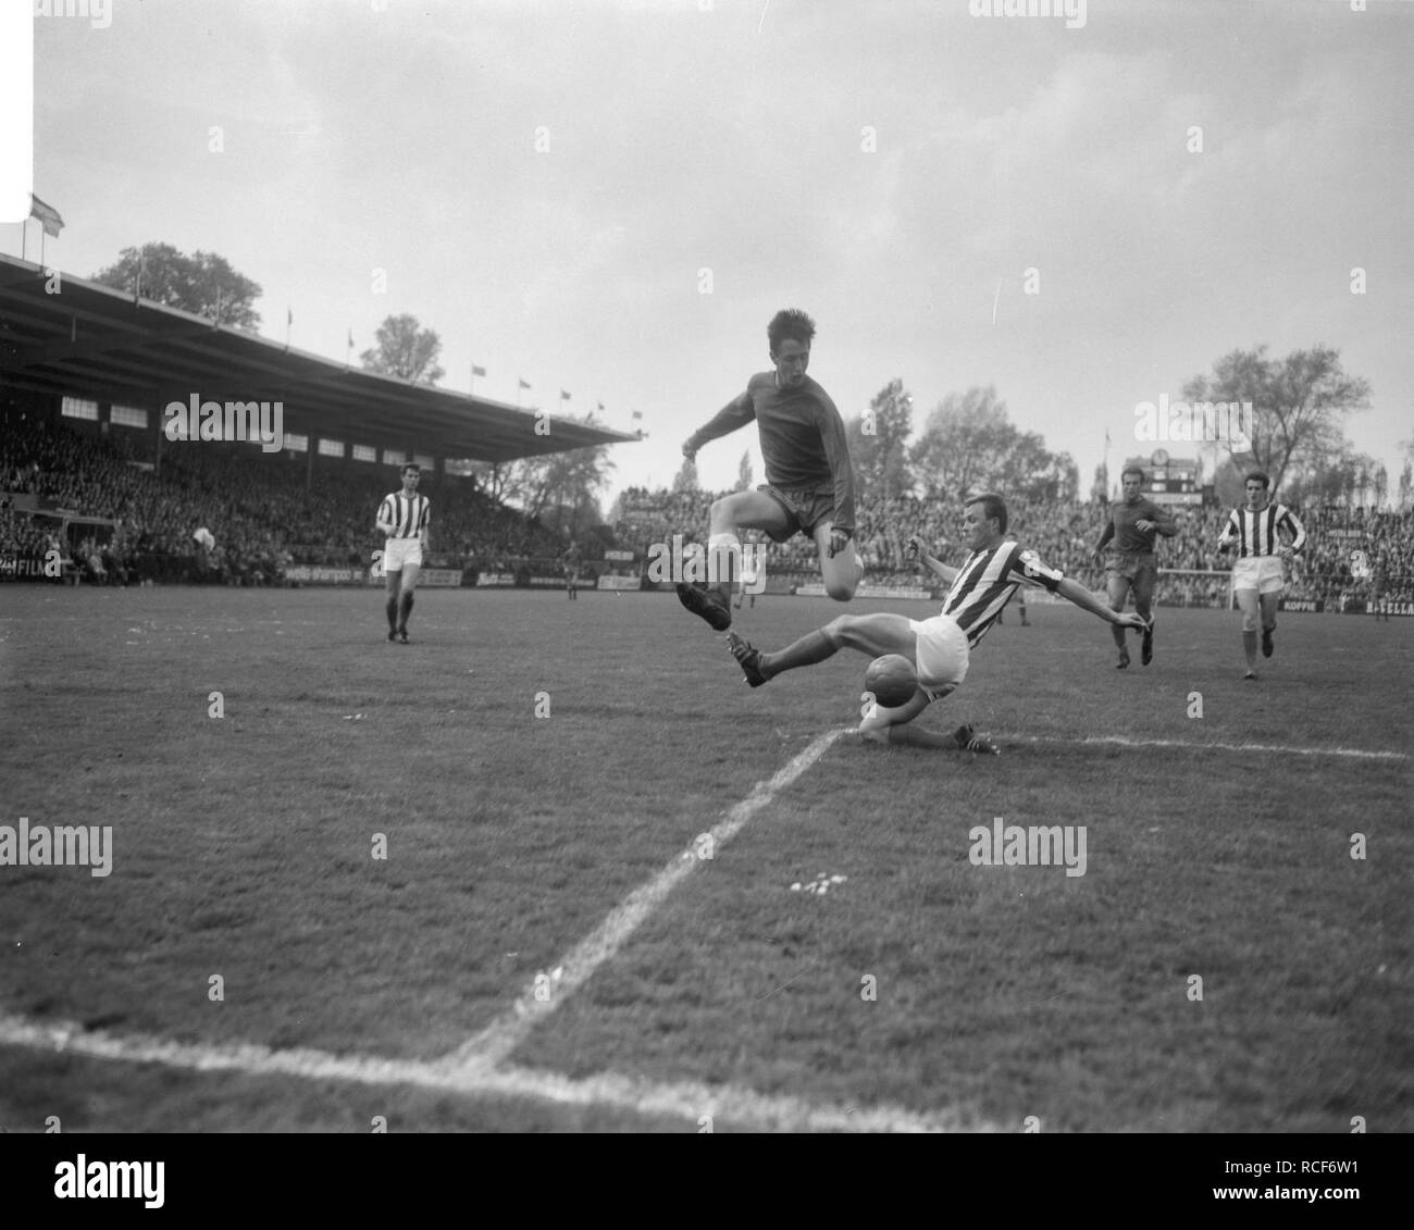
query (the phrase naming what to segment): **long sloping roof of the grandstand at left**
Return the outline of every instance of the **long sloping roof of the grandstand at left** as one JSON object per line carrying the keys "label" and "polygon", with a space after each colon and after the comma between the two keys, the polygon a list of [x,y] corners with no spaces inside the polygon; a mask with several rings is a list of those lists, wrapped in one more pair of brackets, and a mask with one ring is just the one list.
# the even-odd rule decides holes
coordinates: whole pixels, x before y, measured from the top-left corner
{"label": "long sloping roof of the grandstand at left", "polygon": [[205,317],[0,253],[0,373],[6,385],[139,406],[192,393],[283,402],[286,431],[450,458],[512,461],[638,435],[503,402],[348,368]]}

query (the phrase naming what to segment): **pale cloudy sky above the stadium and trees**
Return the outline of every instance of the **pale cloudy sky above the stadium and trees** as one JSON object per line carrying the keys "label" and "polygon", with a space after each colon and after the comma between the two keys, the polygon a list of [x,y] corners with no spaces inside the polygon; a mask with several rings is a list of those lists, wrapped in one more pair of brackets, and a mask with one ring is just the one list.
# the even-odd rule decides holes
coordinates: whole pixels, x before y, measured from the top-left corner
{"label": "pale cloudy sky above the stadium and trees", "polygon": [[[293,345],[341,362],[351,328],[362,351],[411,312],[445,387],[475,362],[491,397],[525,379],[526,404],[564,389],[624,428],[641,411],[614,491],[672,481],[687,434],[768,366],[781,307],[816,318],[810,370],[847,417],[895,376],[919,423],[995,385],[1086,488],[1106,430],[1111,462],[1152,447],[1138,403],[1234,348],[1324,342],[1370,380],[1349,434],[1394,479],[1414,435],[1414,3],[990,7],[37,17],[35,191],[66,223],[47,259],[86,277],[147,240],[218,252],[263,287],[266,335],[288,305]],[[747,448],[759,481],[742,431],[703,451],[704,484],[730,486]]]}

